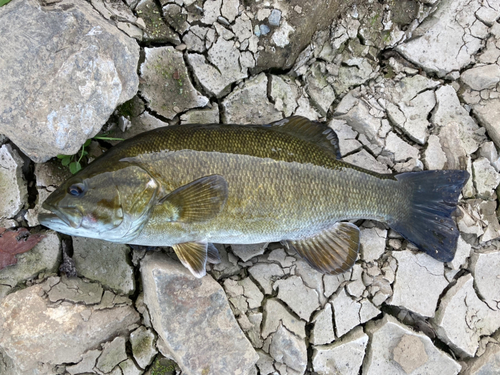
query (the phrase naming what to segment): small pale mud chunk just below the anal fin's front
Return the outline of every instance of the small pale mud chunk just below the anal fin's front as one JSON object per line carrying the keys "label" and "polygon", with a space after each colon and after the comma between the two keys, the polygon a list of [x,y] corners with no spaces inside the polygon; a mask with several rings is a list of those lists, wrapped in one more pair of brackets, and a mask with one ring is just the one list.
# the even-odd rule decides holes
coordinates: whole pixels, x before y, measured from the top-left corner
{"label": "small pale mud chunk just below the anal fin's front", "polygon": [[278,290],[278,298],[305,321],[309,321],[312,312],[319,307],[318,292],[305,286],[298,276],[278,280],[273,288]]}

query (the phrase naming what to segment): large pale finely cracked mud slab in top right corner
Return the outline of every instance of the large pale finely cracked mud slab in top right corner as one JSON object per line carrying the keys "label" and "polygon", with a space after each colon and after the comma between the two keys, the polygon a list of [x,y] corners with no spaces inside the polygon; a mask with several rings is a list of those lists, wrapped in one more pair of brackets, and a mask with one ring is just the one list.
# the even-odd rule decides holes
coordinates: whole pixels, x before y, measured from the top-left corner
{"label": "large pale finely cracked mud slab in top right corner", "polygon": [[[471,35],[470,25],[476,22],[478,1],[446,0],[414,31],[411,40],[396,50],[413,63],[439,77],[460,70],[474,61],[472,55],[482,44]],[[483,35],[484,37],[486,35]]]}

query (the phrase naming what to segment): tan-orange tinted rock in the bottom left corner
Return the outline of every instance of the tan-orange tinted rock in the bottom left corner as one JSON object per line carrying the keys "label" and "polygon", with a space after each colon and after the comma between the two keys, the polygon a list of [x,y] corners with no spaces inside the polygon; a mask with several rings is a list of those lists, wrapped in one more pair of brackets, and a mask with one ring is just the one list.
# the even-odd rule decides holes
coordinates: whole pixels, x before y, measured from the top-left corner
{"label": "tan-orange tinted rock in the bottom left corner", "polygon": [[[99,305],[53,305],[43,297],[51,283],[10,294],[0,302],[0,348],[20,371],[36,371],[43,364],[79,362],[82,354],[139,321],[131,306],[99,310]],[[46,372],[40,372],[46,373]]]}

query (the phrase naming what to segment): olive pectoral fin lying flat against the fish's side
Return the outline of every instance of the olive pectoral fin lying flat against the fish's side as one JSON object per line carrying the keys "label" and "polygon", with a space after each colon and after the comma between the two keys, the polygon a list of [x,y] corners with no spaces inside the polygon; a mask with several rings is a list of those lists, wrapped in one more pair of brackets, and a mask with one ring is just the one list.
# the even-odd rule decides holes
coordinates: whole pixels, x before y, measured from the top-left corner
{"label": "olive pectoral fin lying flat against the fish's side", "polygon": [[199,178],[158,201],[170,205],[172,221],[199,222],[215,217],[227,200],[227,182],[220,175]]}

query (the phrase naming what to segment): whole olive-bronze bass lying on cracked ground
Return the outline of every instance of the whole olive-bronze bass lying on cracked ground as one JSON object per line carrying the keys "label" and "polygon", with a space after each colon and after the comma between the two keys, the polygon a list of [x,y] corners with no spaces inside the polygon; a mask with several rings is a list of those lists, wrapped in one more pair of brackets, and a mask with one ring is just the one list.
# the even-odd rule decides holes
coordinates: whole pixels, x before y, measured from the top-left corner
{"label": "whole olive-bronze bass lying on cracked ground", "polygon": [[293,116],[263,125],[183,124],[110,148],[43,203],[42,225],[72,236],[172,247],[196,277],[213,244],[282,242],[327,274],[358,257],[359,219],[453,259],[464,170],[379,174],[344,162],[335,131]]}

